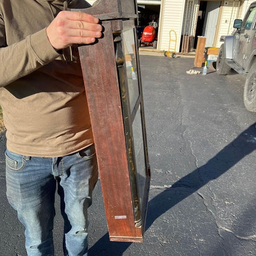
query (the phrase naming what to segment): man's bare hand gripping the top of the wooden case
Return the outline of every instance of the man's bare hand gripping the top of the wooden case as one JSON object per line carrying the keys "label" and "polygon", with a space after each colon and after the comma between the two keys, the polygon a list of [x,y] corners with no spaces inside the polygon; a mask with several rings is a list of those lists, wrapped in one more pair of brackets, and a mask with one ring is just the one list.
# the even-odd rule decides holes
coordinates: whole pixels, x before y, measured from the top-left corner
{"label": "man's bare hand gripping the top of the wooden case", "polygon": [[91,44],[102,36],[98,18],[83,12],[62,11],[46,28],[50,44],[64,49],[71,44]]}

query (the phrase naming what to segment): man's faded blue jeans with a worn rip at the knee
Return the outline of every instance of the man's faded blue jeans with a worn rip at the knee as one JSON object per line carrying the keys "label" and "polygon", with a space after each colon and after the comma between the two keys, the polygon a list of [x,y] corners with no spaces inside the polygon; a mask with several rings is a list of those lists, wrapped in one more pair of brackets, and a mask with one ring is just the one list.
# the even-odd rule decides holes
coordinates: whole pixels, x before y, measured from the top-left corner
{"label": "man's faded blue jeans with a worn rip at the knee", "polygon": [[87,255],[87,208],[97,178],[94,145],[58,158],[6,151],[7,198],[25,226],[28,256],[54,255],[56,188],[64,219],[64,255]]}

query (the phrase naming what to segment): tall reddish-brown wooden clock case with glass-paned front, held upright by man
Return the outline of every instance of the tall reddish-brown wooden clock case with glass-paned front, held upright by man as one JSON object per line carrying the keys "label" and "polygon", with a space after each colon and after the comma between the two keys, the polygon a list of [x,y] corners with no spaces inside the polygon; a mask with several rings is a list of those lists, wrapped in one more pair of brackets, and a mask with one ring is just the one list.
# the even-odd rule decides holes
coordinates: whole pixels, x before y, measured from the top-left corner
{"label": "tall reddish-brown wooden clock case with glass-paned front, held upright by man", "polygon": [[135,0],[99,0],[88,9],[103,37],[80,46],[111,241],[142,242],[150,166],[135,25]]}

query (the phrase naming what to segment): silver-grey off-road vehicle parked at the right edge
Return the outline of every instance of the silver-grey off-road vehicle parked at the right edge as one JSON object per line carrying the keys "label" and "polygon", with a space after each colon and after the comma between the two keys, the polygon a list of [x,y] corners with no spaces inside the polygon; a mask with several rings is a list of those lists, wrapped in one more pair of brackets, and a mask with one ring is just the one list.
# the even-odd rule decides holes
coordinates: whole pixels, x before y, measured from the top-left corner
{"label": "silver-grey off-road vehicle parked at the right edge", "polygon": [[244,105],[256,112],[256,2],[247,10],[244,20],[234,20],[231,36],[222,36],[223,41],[216,62],[217,74],[228,74],[233,68],[246,75]]}

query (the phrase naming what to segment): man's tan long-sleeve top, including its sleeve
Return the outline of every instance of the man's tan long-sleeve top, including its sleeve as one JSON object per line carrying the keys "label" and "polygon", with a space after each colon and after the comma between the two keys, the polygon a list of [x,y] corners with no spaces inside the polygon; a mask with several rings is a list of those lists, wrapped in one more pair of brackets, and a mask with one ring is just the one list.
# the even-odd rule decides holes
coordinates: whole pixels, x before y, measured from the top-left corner
{"label": "man's tan long-sleeve top, including its sleeve", "polygon": [[66,65],[46,34],[63,2],[0,0],[0,105],[14,153],[57,157],[93,143],[81,66]]}

